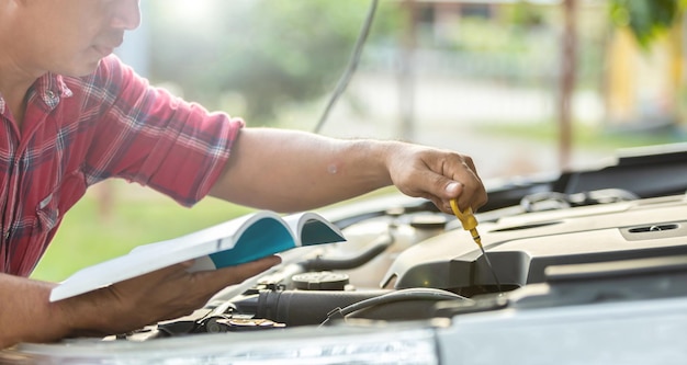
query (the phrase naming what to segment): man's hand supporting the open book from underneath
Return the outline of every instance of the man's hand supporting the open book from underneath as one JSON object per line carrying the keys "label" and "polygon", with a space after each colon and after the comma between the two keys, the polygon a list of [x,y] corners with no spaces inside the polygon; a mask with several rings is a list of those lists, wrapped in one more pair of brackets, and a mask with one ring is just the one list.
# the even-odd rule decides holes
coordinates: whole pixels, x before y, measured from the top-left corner
{"label": "man's hand supporting the open book from underneath", "polygon": [[279,264],[269,256],[246,264],[189,273],[192,261],[165,267],[106,288],[64,300],[72,334],[125,333],[161,320],[190,315],[221,289]]}

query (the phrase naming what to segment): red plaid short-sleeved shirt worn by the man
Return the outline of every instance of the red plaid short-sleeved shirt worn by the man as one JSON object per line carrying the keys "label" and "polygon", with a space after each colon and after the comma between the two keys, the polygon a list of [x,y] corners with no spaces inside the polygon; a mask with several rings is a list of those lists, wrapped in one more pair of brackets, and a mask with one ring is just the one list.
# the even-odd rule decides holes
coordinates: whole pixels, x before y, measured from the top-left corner
{"label": "red plaid short-sleeved shirt worn by the man", "polygon": [[244,125],[185,103],[110,56],[85,78],[46,75],[19,130],[0,95],[0,272],[27,276],[64,214],[108,178],[190,206],[210,191]]}

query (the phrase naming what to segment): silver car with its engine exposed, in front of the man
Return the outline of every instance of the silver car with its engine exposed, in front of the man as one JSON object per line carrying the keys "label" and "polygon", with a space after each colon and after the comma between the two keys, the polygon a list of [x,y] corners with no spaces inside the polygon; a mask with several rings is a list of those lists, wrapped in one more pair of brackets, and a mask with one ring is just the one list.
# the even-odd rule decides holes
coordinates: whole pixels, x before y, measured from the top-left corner
{"label": "silver car with its engine exposed, in front of the man", "polygon": [[687,145],[487,192],[476,217],[495,276],[454,217],[392,194],[322,212],[347,242],[284,252],[192,316],[20,344],[0,363],[687,361]]}

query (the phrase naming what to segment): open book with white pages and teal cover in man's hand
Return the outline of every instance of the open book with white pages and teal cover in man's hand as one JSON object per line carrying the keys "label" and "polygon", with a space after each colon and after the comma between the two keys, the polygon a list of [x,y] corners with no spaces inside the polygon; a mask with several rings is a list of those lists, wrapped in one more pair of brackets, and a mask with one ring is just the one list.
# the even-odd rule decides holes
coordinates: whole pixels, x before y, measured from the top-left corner
{"label": "open book with white pages and teal cover in man's hand", "polygon": [[194,260],[190,271],[215,270],[302,246],[342,241],[341,230],[316,213],[281,216],[260,210],[82,269],[54,287],[49,299],[61,300],[189,260]]}

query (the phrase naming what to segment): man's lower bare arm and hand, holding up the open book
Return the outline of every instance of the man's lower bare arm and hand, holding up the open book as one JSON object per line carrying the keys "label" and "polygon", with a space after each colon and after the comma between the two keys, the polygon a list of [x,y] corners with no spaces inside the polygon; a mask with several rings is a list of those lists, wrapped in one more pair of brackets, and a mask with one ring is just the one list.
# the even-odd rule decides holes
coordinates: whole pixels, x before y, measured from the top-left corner
{"label": "man's lower bare arm and hand, holding up the open book", "polygon": [[215,271],[189,273],[192,262],[49,303],[55,284],[0,274],[0,350],[20,342],[126,333],[191,313],[226,286],[280,262],[269,256]]}

